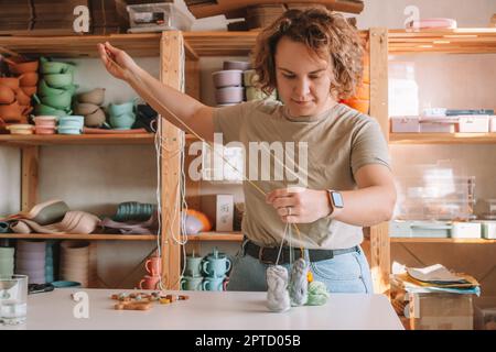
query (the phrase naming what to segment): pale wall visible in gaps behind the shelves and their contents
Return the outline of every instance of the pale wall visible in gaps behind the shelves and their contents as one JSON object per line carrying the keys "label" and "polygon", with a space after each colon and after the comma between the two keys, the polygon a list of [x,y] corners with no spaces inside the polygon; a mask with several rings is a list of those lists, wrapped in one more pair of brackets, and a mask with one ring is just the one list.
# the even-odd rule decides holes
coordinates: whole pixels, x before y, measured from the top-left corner
{"label": "pale wall visible in gaps behind the shelves and their contents", "polygon": [[[360,29],[369,26],[401,28],[405,21],[403,9],[408,4],[418,6],[421,16],[448,16],[459,21],[460,26],[485,26],[496,12],[494,0],[369,0],[358,16]],[[183,1],[181,6],[184,8]],[[193,30],[225,30],[224,16],[198,20]],[[76,40],[76,38],[75,38]],[[222,67],[223,58],[202,58],[202,100],[214,105],[211,73]],[[449,105],[451,108],[496,108],[494,91],[496,72],[494,55],[435,55],[408,56],[395,59],[408,59],[416,63],[420,89],[420,103],[432,106]],[[158,58],[139,58],[138,63],[158,76]],[[125,84],[105,73],[96,59],[77,61],[76,82],[80,89],[106,87],[106,103],[131,99],[134,92]],[[154,201],[157,185],[154,154],[150,146],[51,146],[42,147],[40,165],[40,200],[60,197],[73,209],[83,209],[96,213],[112,213],[120,201]],[[494,145],[485,146],[392,146],[393,167],[400,170],[407,163],[430,162],[438,158],[462,158],[477,177],[477,195],[496,197],[496,165],[487,161],[495,160]],[[0,146],[0,216],[19,210],[20,207],[20,158],[19,150]],[[489,176],[492,175],[492,176]],[[218,186],[207,187],[214,191]],[[226,191],[226,188],[223,188]],[[239,187],[229,191],[240,197]],[[217,243],[223,245],[222,243]],[[103,282],[110,286],[132,287],[143,275],[141,260],[153,250],[154,243],[148,242],[100,242],[98,245],[98,271]],[[208,253],[212,244],[202,248]],[[450,248],[451,250],[446,249]],[[424,262],[436,261],[452,263],[451,253],[463,251],[466,257],[486,254],[488,246],[460,248],[442,245],[435,252],[432,246],[392,248],[392,258],[405,263],[420,264],[422,253],[430,253]],[[236,245],[223,246],[234,253]],[[443,257],[445,253],[445,257]],[[467,254],[468,253],[468,254]],[[434,255],[435,254],[435,255]],[[438,255],[438,256],[436,256]],[[413,258],[417,257],[417,258]],[[484,257],[484,256],[483,256]],[[487,256],[485,256],[487,257]],[[418,261],[420,258],[420,262]],[[465,263],[463,264],[465,265]],[[462,266],[463,266],[462,265]],[[474,275],[485,274],[489,292],[496,294],[496,274],[490,272],[492,263],[478,264]],[[486,275],[486,276],[487,276]],[[493,276],[492,276],[493,275]],[[493,277],[493,278],[492,278]]]}

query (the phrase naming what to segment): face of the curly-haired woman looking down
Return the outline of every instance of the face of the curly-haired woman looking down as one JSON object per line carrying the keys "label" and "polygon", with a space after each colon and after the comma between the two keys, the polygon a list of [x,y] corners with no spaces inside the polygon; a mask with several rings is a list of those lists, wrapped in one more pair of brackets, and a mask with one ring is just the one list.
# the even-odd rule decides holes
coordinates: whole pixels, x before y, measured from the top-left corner
{"label": "face of the curly-haired woman looking down", "polygon": [[283,36],[276,47],[278,94],[292,117],[305,117],[332,108],[332,65],[303,43]]}

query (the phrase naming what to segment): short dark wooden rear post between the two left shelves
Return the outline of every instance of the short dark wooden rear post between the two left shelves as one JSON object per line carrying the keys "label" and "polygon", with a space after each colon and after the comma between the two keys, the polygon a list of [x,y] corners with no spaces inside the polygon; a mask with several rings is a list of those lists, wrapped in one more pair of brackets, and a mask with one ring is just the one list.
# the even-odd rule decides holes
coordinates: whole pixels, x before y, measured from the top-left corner
{"label": "short dark wooden rear post between the two left shelves", "polygon": [[37,200],[39,146],[21,148],[21,210],[29,211]]}

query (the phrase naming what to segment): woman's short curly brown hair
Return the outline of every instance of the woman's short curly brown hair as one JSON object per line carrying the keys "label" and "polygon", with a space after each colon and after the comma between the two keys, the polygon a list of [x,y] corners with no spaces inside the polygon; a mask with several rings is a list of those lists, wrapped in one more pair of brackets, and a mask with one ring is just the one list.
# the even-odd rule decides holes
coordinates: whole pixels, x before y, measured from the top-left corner
{"label": "woman's short curly brown hair", "polygon": [[[363,43],[358,31],[346,19],[325,8],[285,11],[257,37],[254,68],[257,85],[268,95],[276,89],[276,48],[283,36],[305,44],[332,63],[334,77],[331,94],[346,99],[355,94],[362,80]],[[331,59],[330,59],[331,58]]]}

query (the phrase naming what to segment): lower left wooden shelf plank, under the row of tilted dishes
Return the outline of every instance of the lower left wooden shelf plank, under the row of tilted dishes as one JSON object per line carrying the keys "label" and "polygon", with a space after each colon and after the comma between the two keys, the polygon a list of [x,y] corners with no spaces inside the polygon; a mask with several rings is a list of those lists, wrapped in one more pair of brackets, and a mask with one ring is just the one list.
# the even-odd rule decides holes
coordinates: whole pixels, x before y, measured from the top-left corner
{"label": "lower left wooden shelf plank, under the row of tilted dishes", "polygon": [[155,234],[0,233],[0,239],[155,241]]}

